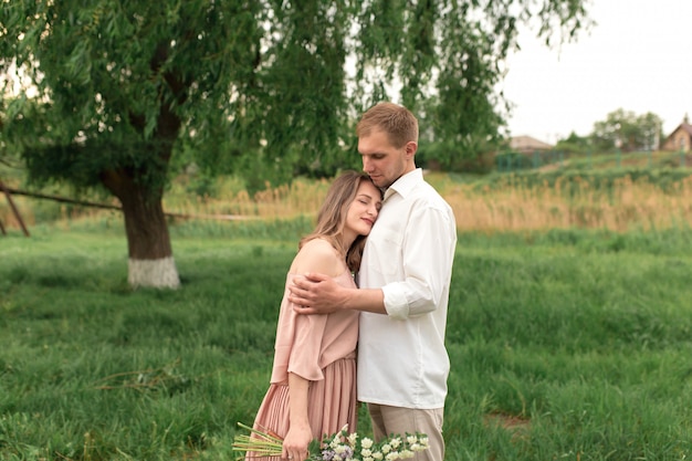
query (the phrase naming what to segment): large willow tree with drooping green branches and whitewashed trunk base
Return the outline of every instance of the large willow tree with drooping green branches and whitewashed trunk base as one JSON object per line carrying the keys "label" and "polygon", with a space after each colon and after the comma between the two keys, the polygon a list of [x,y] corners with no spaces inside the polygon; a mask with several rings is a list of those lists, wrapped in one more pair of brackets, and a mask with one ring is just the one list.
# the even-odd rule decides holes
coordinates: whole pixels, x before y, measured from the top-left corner
{"label": "large willow tree with drooping green branches and whitewashed trunk base", "polygon": [[353,166],[353,119],[392,91],[429,136],[492,136],[518,24],[569,36],[585,1],[0,0],[0,70],[22,82],[0,142],[38,184],[115,196],[130,284],[177,286],[162,197],[181,144],[207,166],[214,146]]}

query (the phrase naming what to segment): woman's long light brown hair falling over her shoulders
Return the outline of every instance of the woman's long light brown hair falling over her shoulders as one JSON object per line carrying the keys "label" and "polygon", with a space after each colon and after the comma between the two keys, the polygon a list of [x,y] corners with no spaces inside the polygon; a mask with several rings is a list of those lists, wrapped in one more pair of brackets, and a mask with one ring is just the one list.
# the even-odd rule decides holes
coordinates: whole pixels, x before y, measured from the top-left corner
{"label": "woman's long light brown hair falling over her shoulders", "polygon": [[334,180],[317,213],[317,226],[310,234],[301,239],[298,249],[313,239],[324,239],[332,243],[332,247],[345,259],[350,272],[358,272],[366,235],[358,235],[350,248],[344,248],[343,241],[348,207],[356,199],[358,187],[364,181],[371,182],[367,174],[350,170]]}

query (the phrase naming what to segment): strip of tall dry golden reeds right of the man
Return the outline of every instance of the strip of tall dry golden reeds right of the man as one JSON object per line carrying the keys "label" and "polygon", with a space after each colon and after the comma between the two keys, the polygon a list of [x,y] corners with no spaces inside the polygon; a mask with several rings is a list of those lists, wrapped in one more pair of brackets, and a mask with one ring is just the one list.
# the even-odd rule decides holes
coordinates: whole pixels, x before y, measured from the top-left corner
{"label": "strip of tall dry golden reeds right of the man", "polygon": [[576,180],[539,186],[505,184],[491,189],[458,185],[442,192],[460,231],[591,228],[612,231],[692,224],[692,178],[665,192],[629,177],[610,188]]}

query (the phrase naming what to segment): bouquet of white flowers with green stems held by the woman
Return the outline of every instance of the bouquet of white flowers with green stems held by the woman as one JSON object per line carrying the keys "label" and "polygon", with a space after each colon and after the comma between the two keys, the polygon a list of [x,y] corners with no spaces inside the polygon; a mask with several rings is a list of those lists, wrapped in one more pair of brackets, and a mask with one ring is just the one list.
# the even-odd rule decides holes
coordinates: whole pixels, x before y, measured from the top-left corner
{"label": "bouquet of white flowers with green stems held by the woman", "polygon": [[[271,430],[258,430],[241,422],[238,426],[248,429],[251,434],[237,436],[233,450],[241,452],[238,460],[242,460],[244,453],[253,452],[255,458],[281,457],[283,440]],[[427,450],[428,437],[417,433],[415,436],[396,436],[379,442],[367,437],[360,438],[357,432],[348,432],[348,425],[340,431],[325,436],[322,443],[312,443],[308,451],[311,461],[395,461],[413,458],[417,451]]]}

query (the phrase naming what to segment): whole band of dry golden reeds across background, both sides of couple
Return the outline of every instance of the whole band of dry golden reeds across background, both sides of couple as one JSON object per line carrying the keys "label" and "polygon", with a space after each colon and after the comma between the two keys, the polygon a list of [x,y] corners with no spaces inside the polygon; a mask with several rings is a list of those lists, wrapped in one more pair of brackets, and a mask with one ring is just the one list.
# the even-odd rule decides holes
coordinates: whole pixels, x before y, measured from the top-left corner
{"label": "whole band of dry golden reeds across background, both sides of couple", "polygon": [[[440,172],[427,179],[454,209],[460,231],[502,232],[548,229],[670,229],[692,224],[692,170],[552,171],[462,177]],[[238,218],[313,219],[328,180],[296,179],[250,197],[233,178],[219,178],[213,195],[190,192],[190,178],[178,178],[165,196],[167,212],[193,221]],[[118,219],[117,212],[15,196],[29,226],[67,220]],[[94,200],[98,200],[97,198]],[[103,200],[103,199],[102,199]],[[117,202],[112,201],[112,205]],[[0,220],[17,228],[0,199]],[[208,223],[200,226],[207,227]]]}

